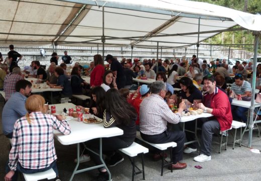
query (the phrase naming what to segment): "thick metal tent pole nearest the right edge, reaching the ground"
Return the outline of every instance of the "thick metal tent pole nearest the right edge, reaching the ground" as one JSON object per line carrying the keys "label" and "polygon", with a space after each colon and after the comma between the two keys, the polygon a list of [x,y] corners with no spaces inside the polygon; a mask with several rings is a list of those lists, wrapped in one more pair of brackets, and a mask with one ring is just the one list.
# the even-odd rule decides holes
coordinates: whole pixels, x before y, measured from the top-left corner
{"label": "thick metal tent pole nearest the right edge, reaching the ground", "polygon": [[248,132],[248,147],[251,147],[252,143],[252,132],[253,132],[253,114],[254,114],[254,91],[255,91],[255,75],[256,75],[256,64],[257,64],[257,49],[258,49],[258,39],[259,39],[259,32],[253,32],[254,35],[254,58],[253,58],[253,78],[252,78],[252,98],[251,98],[251,106],[250,106],[250,118],[249,118],[249,132]]}

